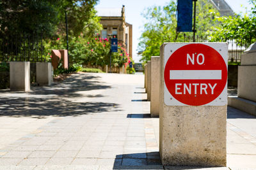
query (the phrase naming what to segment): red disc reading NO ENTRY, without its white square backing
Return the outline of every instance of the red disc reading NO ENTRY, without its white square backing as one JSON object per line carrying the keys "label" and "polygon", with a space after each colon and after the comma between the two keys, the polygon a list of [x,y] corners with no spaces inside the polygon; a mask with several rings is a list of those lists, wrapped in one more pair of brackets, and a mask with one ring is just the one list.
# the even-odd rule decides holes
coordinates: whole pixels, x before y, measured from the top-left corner
{"label": "red disc reading NO ENTRY, without its white square backing", "polygon": [[227,83],[227,66],[211,46],[184,45],[166,62],[164,81],[177,101],[200,106],[220,96]]}

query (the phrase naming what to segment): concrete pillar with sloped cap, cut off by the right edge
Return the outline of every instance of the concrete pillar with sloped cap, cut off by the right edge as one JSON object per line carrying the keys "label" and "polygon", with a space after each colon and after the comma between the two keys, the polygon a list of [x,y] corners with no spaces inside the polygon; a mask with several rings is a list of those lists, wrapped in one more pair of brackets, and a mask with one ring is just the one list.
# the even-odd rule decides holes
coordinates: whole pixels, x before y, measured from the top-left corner
{"label": "concrete pillar with sloped cap, cut off by the right edge", "polygon": [[256,77],[253,76],[255,73],[256,43],[251,45],[241,57],[241,66],[238,66],[238,97],[256,102]]}

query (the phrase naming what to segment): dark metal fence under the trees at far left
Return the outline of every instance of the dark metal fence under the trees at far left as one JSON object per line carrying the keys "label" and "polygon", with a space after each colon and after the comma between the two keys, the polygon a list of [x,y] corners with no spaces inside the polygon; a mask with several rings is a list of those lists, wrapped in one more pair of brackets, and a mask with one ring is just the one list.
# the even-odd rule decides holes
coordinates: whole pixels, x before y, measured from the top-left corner
{"label": "dark metal fence under the trees at far left", "polygon": [[43,36],[20,34],[0,38],[0,62],[8,61],[45,61]]}

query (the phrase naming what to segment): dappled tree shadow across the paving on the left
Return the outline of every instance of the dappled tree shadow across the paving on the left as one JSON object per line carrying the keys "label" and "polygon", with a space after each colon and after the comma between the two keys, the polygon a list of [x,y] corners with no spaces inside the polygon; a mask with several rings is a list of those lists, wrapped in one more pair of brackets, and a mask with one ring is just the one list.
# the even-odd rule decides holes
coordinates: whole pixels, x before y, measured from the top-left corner
{"label": "dappled tree shadow across the paving on the left", "polygon": [[[79,116],[104,111],[120,111],[118,104],[105,102],[76,102],[76,97],[104,97],[90,90],[109,89],[99,76],[76,74],[51,87],[32,87],[31,92],[0,92],[0,116],[44,118],[45,116]],[[88,91],[86,94],[83,92]],[[68,100],[69,99],[69,100]]]}

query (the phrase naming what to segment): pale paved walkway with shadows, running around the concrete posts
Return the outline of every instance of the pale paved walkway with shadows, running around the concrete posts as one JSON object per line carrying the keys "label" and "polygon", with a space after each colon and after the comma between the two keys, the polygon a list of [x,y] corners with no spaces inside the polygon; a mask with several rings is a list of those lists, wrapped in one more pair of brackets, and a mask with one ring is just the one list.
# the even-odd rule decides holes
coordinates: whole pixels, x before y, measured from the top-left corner
{"label": "pale paved walkway with shadows, running around the concrete posts", "polygon": [[[196,169],[161,165],[143,77],[79,73],[29,93],[1,90],[0,169]],[[232,169],[256,169],[255,120],[228,108]]]}

